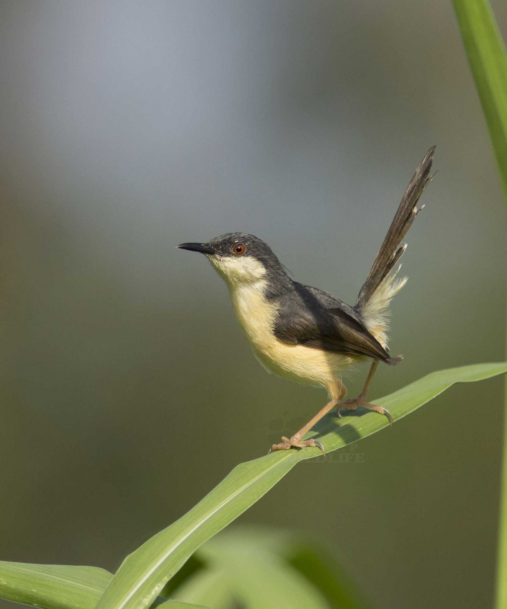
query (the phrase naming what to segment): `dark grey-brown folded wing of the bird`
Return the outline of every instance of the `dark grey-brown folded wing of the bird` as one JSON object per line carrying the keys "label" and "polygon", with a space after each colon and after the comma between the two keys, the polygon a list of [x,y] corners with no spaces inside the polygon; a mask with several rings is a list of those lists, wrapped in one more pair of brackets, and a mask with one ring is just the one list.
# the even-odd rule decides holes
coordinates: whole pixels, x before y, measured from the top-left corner
{"label": "dark grey-brown folded wing of the bird", "polygon": [[389,360],[358,314],[337,298],[296,284],[298,298],[280,303],[274,334],[283,342]]}

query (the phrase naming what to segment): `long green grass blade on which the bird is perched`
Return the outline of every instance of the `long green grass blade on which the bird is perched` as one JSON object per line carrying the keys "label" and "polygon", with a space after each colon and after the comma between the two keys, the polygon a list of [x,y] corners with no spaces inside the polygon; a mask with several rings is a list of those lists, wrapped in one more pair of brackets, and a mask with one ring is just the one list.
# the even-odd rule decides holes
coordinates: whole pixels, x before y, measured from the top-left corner
{"label": "long green grass blade on which the bird is perched", "polygon": [[[394,420],[413,412],[455,382],[472,382],[507,372],[507,362],[441,370],[375,400],[388,406]],[[358,409],[338,419],[324,417],[308,435],[317,435],[326,451],[357,442],[388,425],[386,417]],[[146,541],[122,563],[102,596],[98,609],[148,607],[164,584],[210,537],[247,510],[297,462],[316,457],[318,448],[278,451],[241,463],[182,518]]]}

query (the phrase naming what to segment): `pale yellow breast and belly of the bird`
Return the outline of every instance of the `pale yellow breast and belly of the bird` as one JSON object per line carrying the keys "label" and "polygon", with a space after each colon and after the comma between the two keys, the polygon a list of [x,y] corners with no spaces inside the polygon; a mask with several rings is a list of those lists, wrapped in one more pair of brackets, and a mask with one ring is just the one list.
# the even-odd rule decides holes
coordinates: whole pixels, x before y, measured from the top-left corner
{"label": "pale yellow breast and belly of the bird", "polygon": [[261,280],[248,286],[229,286],[236,319],[258,361],[278,376],[325,387],[331,398],[338,398],[342,373],[364,358],[277,339],[273,334],[277,306],[264,298],[265,285]]}

